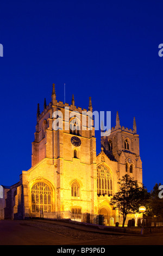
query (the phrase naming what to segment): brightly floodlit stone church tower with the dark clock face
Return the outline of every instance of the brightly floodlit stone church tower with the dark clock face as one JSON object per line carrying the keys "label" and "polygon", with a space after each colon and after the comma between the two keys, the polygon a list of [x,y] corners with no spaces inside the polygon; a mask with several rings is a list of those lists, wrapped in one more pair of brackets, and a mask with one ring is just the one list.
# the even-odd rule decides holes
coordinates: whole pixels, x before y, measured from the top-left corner
{"label": "brightly floodlit stone church tower with the dark clock face", "polygon": [[[96,138],[95,128],[89,127],[88,110],[57,101],[55,84],[52,101],[43,111],[37,105],[37,124],[32,143],[32,168],[22,172],[26,194],[25,209],[35,214],[71,211],[94,213],[97,209]],[[85,119],[83,118],[85,113]],[[38,196],[41,190],[45,194]],[[42,192],[43,193],[43,192]],[[48,204],[49,202],[49,204]]]}

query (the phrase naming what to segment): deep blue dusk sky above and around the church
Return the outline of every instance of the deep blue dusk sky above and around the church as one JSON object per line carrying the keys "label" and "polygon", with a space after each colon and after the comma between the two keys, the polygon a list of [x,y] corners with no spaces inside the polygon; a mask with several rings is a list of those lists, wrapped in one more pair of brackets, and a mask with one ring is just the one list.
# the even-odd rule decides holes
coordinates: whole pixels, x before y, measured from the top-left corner
{"label": "deep blue dusk sky above and around the church", "polygon": [[[37,102],[57,100],[111,111],[115,126],[136,118],[143,184],[162,178],[163,3],[161,1],[3,1],[0,14],[1,175],[18,182],[31,167]],[[97,154],[100,150],[99,132]]]}

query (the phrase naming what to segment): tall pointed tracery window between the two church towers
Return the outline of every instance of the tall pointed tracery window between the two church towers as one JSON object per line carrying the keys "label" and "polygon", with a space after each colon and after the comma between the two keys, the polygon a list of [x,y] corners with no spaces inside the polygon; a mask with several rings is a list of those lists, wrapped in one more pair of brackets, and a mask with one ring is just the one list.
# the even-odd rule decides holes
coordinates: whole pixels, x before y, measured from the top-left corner
{"label": "tall pointed tracery window between the two church towers", "polygon": [[112,177],[109,168],[104,164],[97,167],[97,194],[112,196]]}

